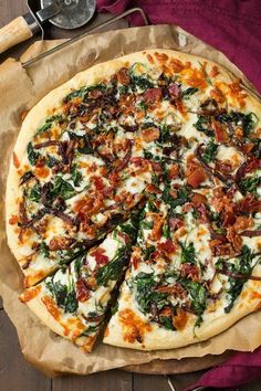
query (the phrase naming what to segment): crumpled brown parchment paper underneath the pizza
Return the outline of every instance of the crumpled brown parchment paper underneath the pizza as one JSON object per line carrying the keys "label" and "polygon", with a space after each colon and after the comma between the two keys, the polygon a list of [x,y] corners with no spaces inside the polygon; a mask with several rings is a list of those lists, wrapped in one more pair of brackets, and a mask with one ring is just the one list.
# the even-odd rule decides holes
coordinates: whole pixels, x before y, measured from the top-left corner
{"label": "crumpled brown parchment paper underneath the pizza", "polygon": [[[38,42],[28,50],[21,61],[24,62],[58,43],[54,41]],[[87,374],[142,364],[154,359],[168,360],[220,355],[228,349],[252,351],[261,345],[261,311],[259,311],[208,341],[185,348],[143,352],[98,342],[94,351],[87,355],[72,342],[54,335],[25,305],[18,300],[18,295],[22,292],[22,273],[7,245],[3,213],[7,171],[21,126],[21,114],[79,71],[98,62],[153,47],[178,49],[213,60],[234,73],[253,91],[241,72],[220,52],[170,25],[135,28],[90,35],[27,70],[22,68],[20,62],[11,59],[0,65],[0,294],[4,309],[17,328],[24,357],[50,376],[64,372]]]}

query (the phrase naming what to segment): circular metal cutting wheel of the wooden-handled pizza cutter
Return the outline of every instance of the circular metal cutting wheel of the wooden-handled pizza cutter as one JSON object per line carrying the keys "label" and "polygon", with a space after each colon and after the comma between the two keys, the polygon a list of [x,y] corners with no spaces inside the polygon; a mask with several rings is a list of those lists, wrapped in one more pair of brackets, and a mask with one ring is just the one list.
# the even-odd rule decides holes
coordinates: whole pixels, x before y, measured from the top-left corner
{"label": "circular metal cutting wheel of the wooden-handled pizza cutter", "polygon": [[95,8],[96,0],[41,0],[36,17],[41,23],[49,20],[60,29],[72,30],[86,24]]}

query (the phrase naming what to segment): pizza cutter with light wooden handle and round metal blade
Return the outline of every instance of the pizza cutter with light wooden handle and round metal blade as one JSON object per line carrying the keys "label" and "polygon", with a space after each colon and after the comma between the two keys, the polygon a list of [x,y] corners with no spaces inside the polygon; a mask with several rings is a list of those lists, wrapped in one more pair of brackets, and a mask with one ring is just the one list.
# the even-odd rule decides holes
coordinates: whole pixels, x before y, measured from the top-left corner
{"label": "pizza cutter with light wooden handle and round metal blade", "polygon": [[29,11],[0,29],[0,53],[44,30],[49,21],[60,29],[77,29],[87,23],[96,8],[96,0],[28,0]]}

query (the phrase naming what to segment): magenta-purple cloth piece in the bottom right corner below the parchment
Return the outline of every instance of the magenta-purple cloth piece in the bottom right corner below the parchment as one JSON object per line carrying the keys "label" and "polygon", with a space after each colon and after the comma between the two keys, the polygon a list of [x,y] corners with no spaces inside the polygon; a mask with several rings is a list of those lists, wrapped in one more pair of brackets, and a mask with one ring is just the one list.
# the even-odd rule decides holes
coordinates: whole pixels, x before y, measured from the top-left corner
{"label": "magenta-purple cloth piece in the bottom right corner below the parchment", "polygon": [[191,391],[200,385],[236,391],[238,385],[259,377],[261,377],[261,347],[253,352],[236,352],[227,362],[210,369],[185,391]]}

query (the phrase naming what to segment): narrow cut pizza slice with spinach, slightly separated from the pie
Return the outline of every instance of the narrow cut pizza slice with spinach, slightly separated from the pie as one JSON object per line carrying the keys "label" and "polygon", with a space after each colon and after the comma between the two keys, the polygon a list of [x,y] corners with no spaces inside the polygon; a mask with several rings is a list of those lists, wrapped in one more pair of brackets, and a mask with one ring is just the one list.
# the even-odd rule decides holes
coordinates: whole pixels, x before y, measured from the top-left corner
{"label": "narrow cut pizza slice with spinach, slightly separated from the pie", "polygon": [[87,254],[24,290],[20,300],[54,332],[90,352],[103,327],[113,290],[127,267],[135,237],[136,221],[132,219]]}

